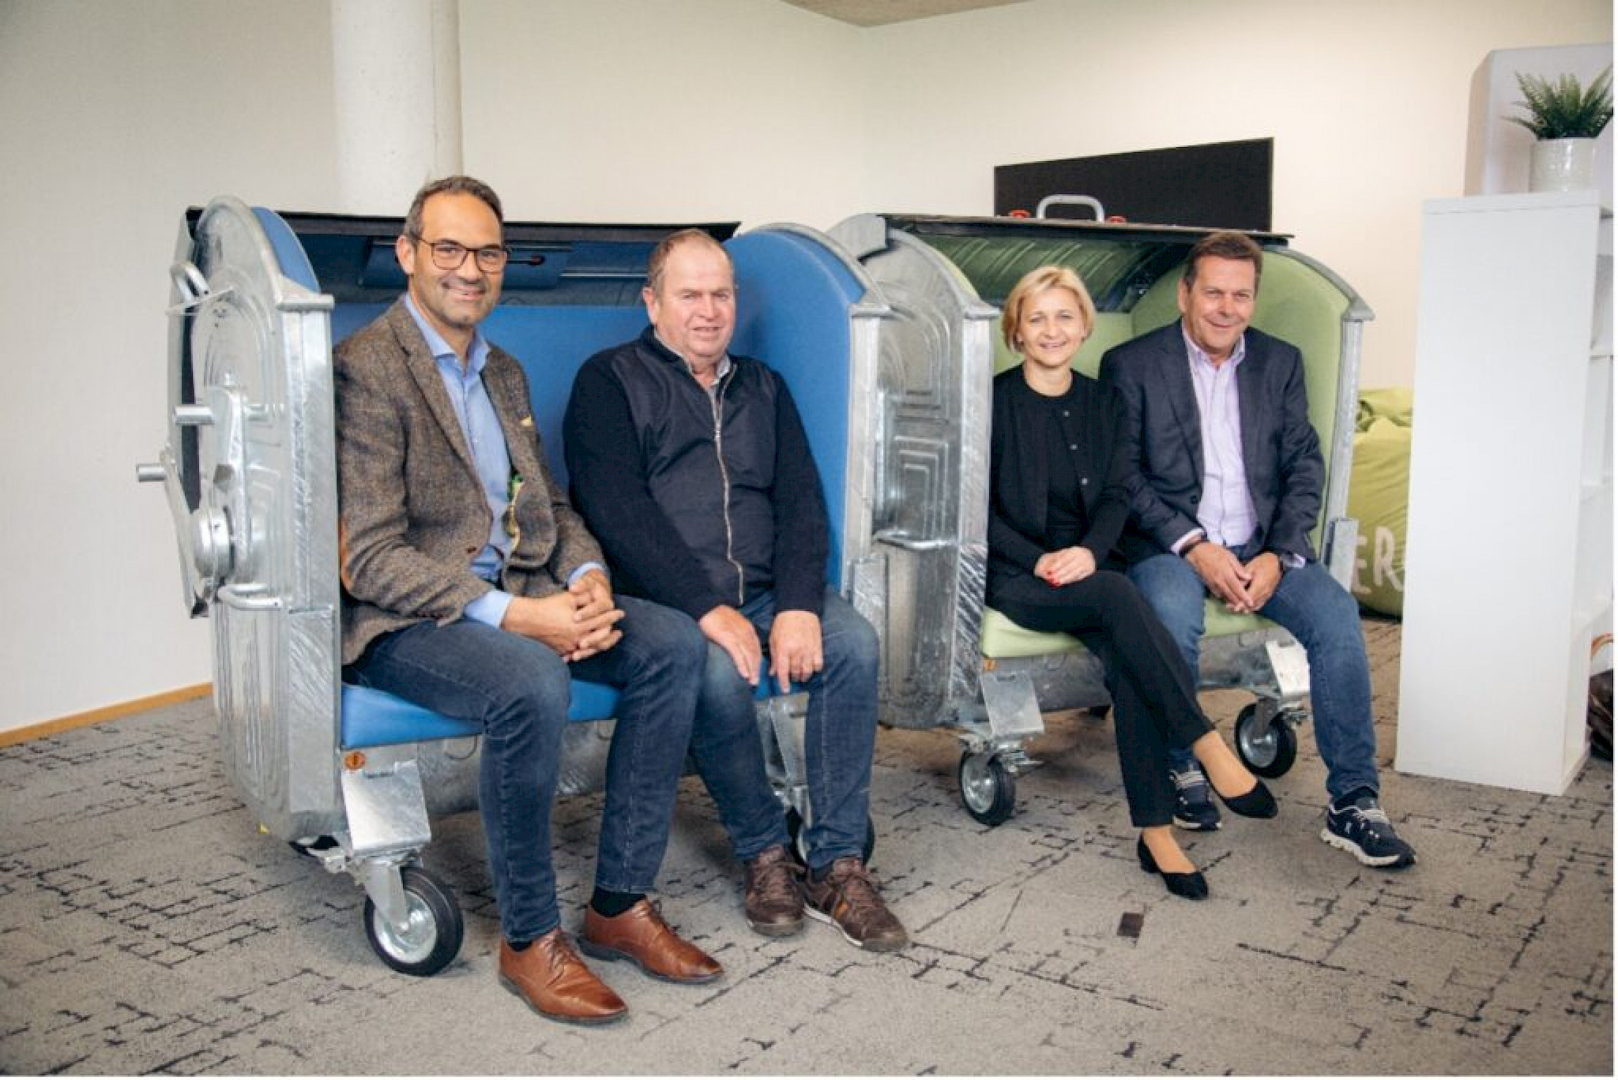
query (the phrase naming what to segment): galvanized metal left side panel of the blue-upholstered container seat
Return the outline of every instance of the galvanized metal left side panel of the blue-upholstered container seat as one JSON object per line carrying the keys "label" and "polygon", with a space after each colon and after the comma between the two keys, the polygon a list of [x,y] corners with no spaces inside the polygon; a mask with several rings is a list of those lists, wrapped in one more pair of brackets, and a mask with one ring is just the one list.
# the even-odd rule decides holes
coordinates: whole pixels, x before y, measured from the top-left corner
{"label": "galvanized metal left side panel of the blue-upholstered container seat", "polygon": [[[254,213],[181,221],[162,470],[193,614],[214,622],[225,768],[275,836],[341,826],[332,301],[288,278]],[[183,521],[181,521],[183,517]]]}

